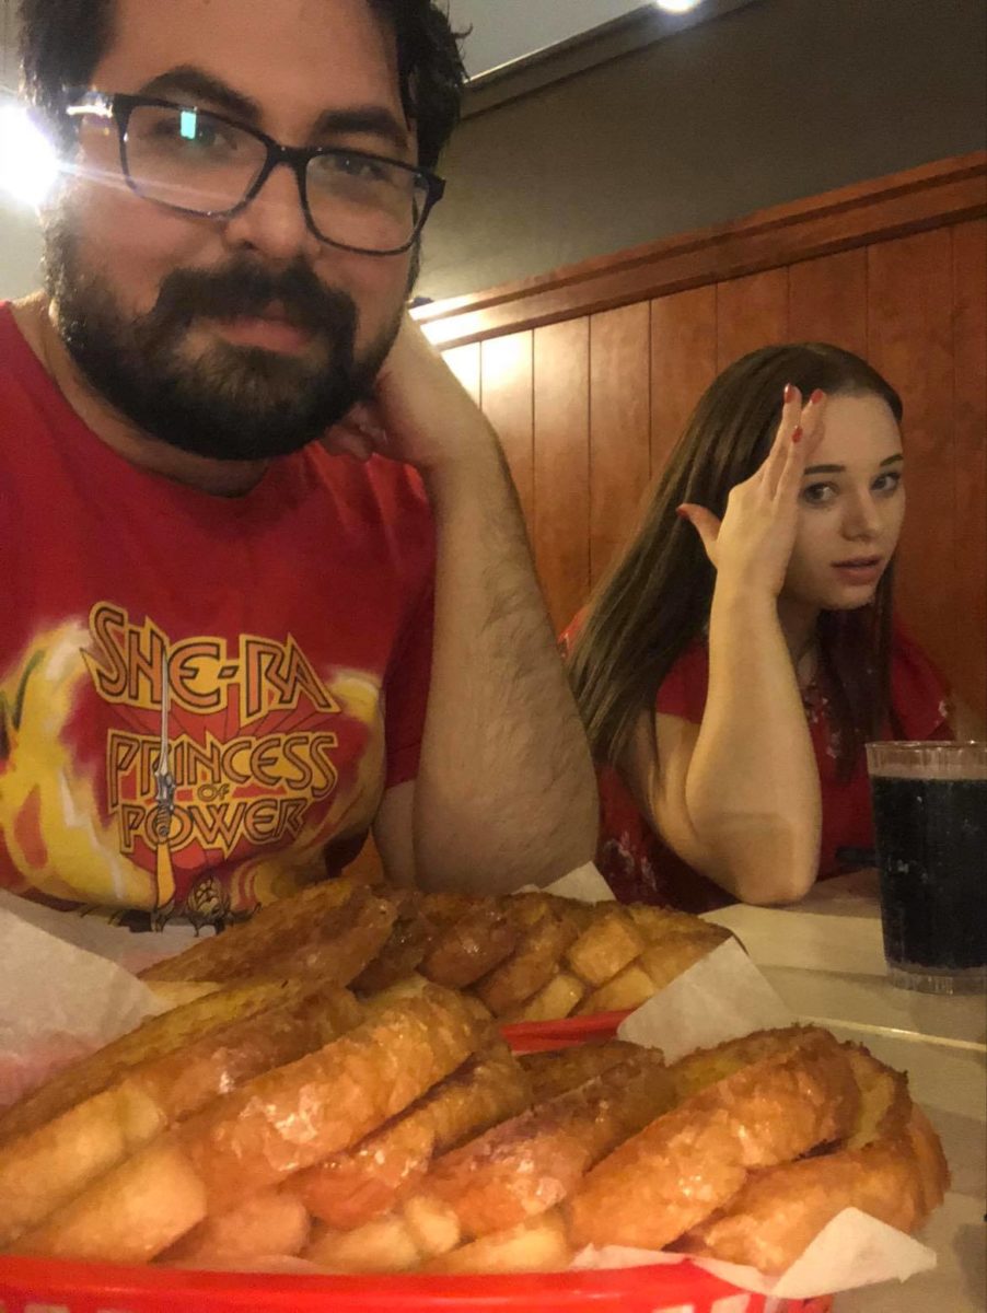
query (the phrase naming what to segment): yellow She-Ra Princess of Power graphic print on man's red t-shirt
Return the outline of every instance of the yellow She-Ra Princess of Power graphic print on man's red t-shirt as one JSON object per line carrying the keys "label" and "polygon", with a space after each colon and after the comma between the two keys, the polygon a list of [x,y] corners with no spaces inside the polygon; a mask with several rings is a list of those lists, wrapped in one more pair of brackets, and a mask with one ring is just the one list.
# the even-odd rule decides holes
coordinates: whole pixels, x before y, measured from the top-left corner
{"label": "yellow She-Ra Princess of Power graphic print on man's red t-shirt", "polygon": [[382,780],[379,680],[290,634],[175,641],[101,601],[0,675],[0,868],[47,898],[238,919],[323,876]]}

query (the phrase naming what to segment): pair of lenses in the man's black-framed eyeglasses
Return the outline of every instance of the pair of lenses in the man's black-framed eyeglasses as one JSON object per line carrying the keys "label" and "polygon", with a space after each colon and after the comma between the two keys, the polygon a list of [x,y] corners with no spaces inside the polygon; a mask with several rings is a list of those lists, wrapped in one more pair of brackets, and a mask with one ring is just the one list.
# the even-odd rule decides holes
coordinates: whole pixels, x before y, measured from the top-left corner
{"label": "pair of lenses in the man's black-framed eyeglasses", "polygon": [[[268,148],[252,133],[209,113],[135,105],[125,155],[142,196],[200,214],[223,214],[256,184]],[[308,161],[306,192],[312,225],[327,242],[395,251],[419,227],[428,183],[386,160],[333,150]]]}

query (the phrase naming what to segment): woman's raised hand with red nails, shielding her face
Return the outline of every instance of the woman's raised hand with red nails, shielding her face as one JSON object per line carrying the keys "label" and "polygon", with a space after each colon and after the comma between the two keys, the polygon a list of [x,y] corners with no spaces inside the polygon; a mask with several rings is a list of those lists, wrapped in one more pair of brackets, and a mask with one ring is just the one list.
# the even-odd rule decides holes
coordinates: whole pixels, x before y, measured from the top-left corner
{"label": "woman's raised hand with red nails, shielding her face", "polygon": [[823,393],[812,393],[803,404],[799,390],[789,385],[774,444],[757,473],[730,490],[723,519],[692,503],[679,507],[721,580],[763,586],[776,597],[781,592],[795,545],[802,473],[819,445],[824,412]]}

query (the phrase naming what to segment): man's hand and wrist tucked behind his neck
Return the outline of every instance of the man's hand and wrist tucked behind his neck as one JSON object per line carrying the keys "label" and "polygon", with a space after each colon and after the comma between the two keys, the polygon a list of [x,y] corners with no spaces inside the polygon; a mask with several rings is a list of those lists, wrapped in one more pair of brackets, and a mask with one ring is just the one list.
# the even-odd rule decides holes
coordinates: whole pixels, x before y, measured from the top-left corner
{"label": "man's hand and wrist tucked behind his neck", "polygon": [[377,376],[375,398],[361,403],[323,440],[329,452],[365,461],[373,453],[423,474],[496,449],[494,431],[419,326],[406,315]]}

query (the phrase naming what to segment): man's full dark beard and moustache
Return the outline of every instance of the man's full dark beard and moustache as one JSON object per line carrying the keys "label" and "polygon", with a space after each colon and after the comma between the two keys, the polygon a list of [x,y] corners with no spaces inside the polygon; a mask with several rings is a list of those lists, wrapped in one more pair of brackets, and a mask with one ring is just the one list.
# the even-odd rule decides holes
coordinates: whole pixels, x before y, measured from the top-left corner
{"label": "man's full dark beard and moustache", "polygon": [[[402,315],[357,356],[358,312],[345,291],[302,260],[273,272],[244,259],[176,269],[148,314],[127,314],[106,280],[84,269],[64,211],[46,228],[45,285],[87,383],[150,437],[218,461],[287,456],[369,400]],[[311,334],[311,356],[223,341],[194,357],[182,352],[196,320],[260,316],[274,302]]]}

